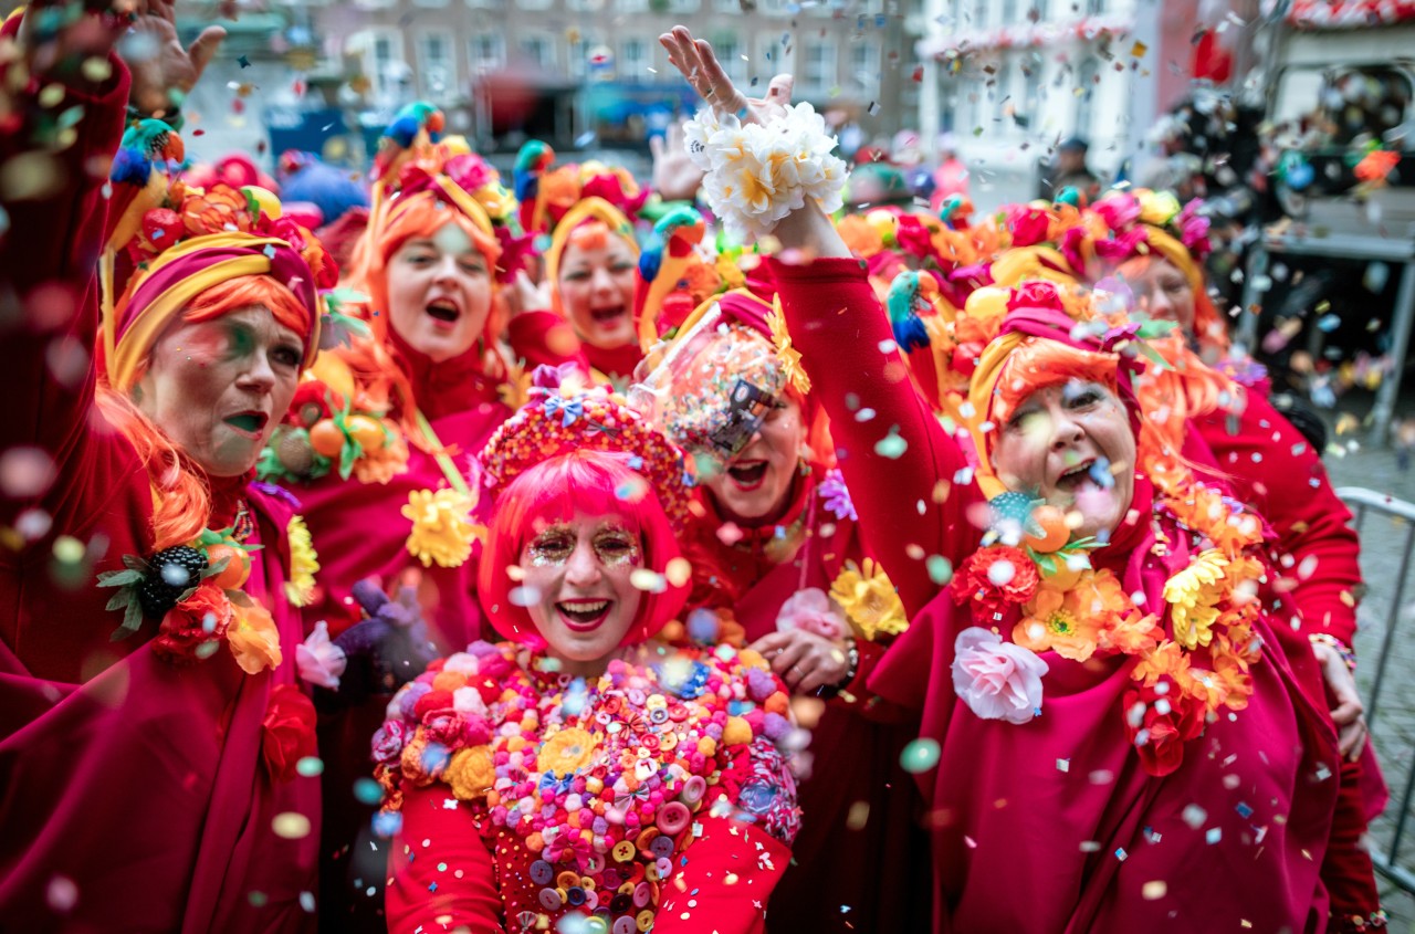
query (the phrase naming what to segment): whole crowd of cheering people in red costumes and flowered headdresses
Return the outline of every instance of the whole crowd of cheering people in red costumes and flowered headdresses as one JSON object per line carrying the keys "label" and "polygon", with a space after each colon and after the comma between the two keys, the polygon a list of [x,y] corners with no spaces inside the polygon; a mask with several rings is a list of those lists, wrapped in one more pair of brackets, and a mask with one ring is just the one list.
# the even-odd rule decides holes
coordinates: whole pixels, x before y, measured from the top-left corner
{"label": "whole crowd of cheering people in red costumes and flowered headdresses", "polygon": [[4,27],[0,927],[1384,927],[1358,542],[1196,202],[845,209],[682,27],[696,202],[420,103],[277,194],[184,158],[221,37]]}

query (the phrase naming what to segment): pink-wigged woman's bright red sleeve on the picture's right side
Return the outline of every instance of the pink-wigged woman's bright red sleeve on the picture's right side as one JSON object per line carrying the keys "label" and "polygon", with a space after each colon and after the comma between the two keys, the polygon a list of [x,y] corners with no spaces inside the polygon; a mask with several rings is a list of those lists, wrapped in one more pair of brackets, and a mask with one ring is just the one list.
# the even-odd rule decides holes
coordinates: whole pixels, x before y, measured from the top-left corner
{"label": "pink-wigged woman's bright red sleeve on the picture's right side", "polygon": [[761,934],[771,889],[791,851],[753,824],[705,817],[702,836],[675,856],[655,934]]}

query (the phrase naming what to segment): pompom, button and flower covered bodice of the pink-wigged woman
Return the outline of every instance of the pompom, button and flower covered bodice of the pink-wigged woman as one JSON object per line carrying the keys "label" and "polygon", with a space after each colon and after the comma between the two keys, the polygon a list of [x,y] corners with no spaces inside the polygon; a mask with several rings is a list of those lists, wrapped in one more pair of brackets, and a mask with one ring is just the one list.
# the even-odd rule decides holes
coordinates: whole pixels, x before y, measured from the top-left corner
{"label": "pompom, button and flower covered bodice of the pink-wigged woman", "polygon": [[374,737],[385,814],[405,788],[440,783],[483,834],[528,851],[531,883],[502,889],[508,918],[548,930],[608,906],[651,923],[709,814],[795,836],[795,780],[777,750],[790,699],[760,655],[644,647],[590,681],[552,665],[474,642],[405,685]]}

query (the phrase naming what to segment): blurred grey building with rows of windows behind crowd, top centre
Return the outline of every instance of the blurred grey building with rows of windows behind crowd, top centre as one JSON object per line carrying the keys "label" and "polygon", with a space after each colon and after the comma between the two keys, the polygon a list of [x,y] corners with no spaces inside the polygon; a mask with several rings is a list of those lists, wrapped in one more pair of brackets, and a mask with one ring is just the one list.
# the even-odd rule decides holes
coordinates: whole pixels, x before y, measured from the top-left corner
{"label": "blurred grey building with rows of windows behind crowd, top centre", "polygon": [[749,91],[791,71],[798,100],[836,109],[866,136],[917,113],[917,35],[906,33],[910,10],[900,0],[325,0],[307,8],[323,71],[347,79],[345,105],[386,115],[427,99],[488,151],[526,137],[642,147],[649,130],[696,106],[658,45],[678,23],[708,38]]}

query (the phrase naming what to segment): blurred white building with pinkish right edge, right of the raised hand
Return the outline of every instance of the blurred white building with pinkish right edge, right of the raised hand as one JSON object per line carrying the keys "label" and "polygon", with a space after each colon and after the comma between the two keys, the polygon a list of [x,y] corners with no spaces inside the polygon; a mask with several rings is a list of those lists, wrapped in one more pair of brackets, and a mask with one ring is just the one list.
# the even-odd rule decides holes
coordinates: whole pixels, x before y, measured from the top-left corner
{"label": "blurred white building with pinkish right edge, right of the raised hand", "polygon": [[[1197,0],[928,0],[920,126],[949,133],[982,204],[1030,198],[1057,143],[1111,183],[1193,74]],[[982,197],[976,195],[982,192]],[[990,194],[990,197],[989,197]]]}

